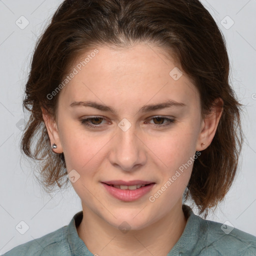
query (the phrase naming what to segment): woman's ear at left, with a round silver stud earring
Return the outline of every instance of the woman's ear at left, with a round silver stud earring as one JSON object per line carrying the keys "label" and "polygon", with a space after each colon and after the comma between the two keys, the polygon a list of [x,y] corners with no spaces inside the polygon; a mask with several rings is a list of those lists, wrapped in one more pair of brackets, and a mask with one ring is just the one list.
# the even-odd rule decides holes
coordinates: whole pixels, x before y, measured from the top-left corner
{"label": "woman's ear at left, with a round silver stud earring", "polygon": [[43,107],[41,107],[41,110],[42,110],[43,121],[45,123],[46,129],[50,138],[50,145],[52,146],[53,143],[57,145],[57,147],[52,148],[52,150],[55,153],[62,153],[63,149],[62,149],[62,145],[59,138],[57,124],[53,116],[49,115]]}

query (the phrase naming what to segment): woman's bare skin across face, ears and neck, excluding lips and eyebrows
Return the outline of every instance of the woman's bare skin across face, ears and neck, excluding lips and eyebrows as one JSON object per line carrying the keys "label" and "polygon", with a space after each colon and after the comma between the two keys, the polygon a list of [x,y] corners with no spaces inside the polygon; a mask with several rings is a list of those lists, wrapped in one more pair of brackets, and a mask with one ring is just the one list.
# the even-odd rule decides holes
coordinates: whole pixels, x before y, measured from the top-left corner
{"label": "woman's bare skin across face, ears and neck, excluding lips and eyebrows", "polygon": [[[202,119],[196,87],[184,72],[178,80],[169,75],[175,64],[156,46],[141,43],[118,50],[107,46],[97,49],[59,92],[57,120],[43,114],[50,142],[57,144],[52,150],[63,152],[67,171],[75,169],[80,175],[71,183],[83,209],[78,235],[93,254],[166,255],[186,224],[182,194],[192,164],[154,202],[148,197],[195,151],[210,144],[222,111],[212,108]],[[143,105],[167,99],[185,106],[139,111]],[[116,113],[70,106],[73,101],[85,100],[110,106]],[[89,121],[100,128],[81,124],[81,118],[93,115],[106,118]],[[161,128],[167,120],[153,118],[157,115],[175,122]],[[123,118],[131,124],[126,131],[118,127]],[[112,197],[100,183],[113,179],[156,184],[146,195],[127,202]],[[123,221],[130,226],[126,233],[118,228]]]}

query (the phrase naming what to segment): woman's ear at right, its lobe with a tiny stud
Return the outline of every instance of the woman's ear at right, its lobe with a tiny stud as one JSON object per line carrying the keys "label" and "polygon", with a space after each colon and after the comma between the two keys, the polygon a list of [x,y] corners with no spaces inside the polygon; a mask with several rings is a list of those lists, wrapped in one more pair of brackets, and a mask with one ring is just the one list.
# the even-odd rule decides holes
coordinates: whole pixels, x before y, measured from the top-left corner
{"label": "woman's ear at right, its lobe with a tiny stud", "polygon": [[[207,148],[215,135],[223,111],[223,100],[222,98],[216,98],[214,102],[214,105],[211,107],[211,112],[202,120],[200,133],[196,143],[196,151],[201,151]],[[204,143],[204,145],[202,143]]]}

